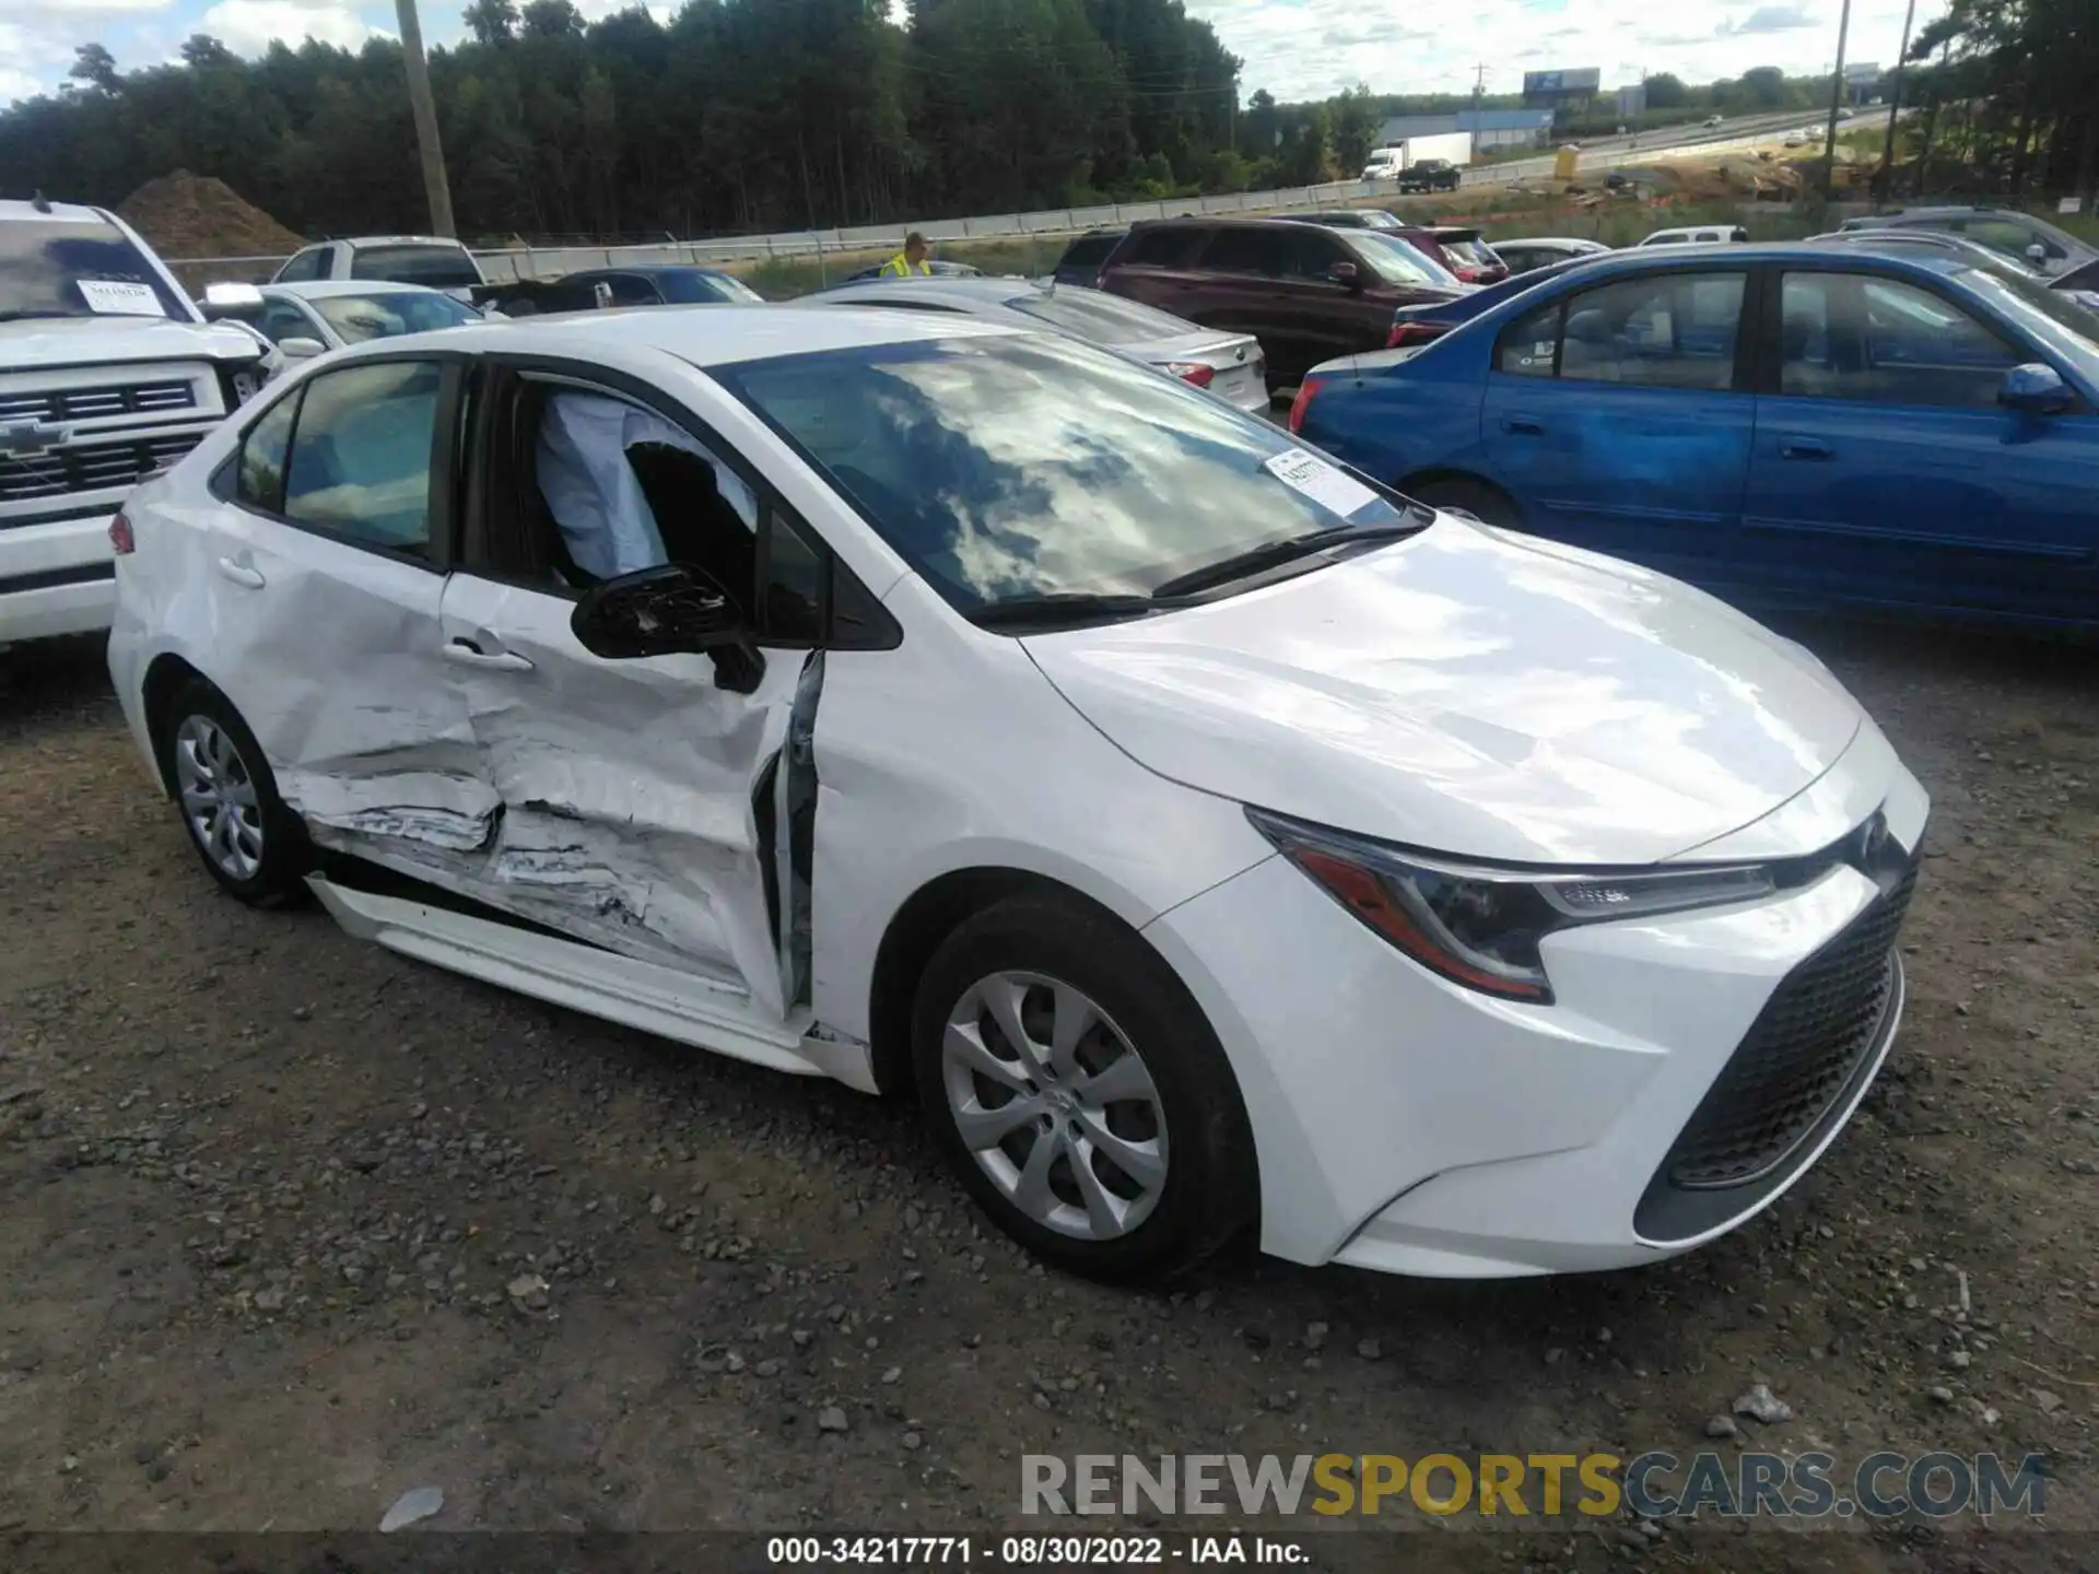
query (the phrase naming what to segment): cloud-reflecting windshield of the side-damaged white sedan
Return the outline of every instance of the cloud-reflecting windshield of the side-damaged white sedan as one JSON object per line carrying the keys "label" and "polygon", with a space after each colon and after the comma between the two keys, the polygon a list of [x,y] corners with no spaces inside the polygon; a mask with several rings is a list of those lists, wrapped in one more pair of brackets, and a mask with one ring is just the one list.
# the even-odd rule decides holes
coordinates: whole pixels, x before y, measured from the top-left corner
{"label": "cloud-reflecting windshield of the side-damaged white sedan", "polygon": [[[1148,596],[1192,569],[1402,504],[1318,468],[1289,432],[1056,336],[873,344],[714,367],[955,609]],[[1297,474],[1293,470],[1293,474]],[[1320,495],[1362,506],[1345,516]]]}

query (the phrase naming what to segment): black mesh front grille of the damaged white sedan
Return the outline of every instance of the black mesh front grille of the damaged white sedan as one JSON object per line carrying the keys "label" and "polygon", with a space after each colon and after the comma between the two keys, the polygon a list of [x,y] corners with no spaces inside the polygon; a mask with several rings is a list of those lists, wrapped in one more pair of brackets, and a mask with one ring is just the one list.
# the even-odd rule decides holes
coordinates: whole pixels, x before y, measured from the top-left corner
{"label": "black mesh front grille of the damaged white sedan", "polygon": [[1744,1186],[1814,1129],[1881,1037],[1895,993],[1895,934],[1914,888],[1910,865],[1774,991],[1662,1161],[1671,1186]]}

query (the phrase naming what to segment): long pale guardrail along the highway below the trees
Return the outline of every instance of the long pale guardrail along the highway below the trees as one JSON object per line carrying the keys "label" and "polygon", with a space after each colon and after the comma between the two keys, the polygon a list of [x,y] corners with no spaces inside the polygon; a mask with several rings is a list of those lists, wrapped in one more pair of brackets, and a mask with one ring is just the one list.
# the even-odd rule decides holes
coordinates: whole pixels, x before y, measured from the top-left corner
{"label": "long pale guardrail along the highway below the trees", "polygon": [[[1887,115],[1866,111],[1849,126],[1879,124]],[[1652,164],[1673,153],[1727,153],[1772,141],[1772,132],[1782,126],[1807,124],[1809,111],[1759,118],[1755,128],[1736,122],[1723,130],[1698,128],[1688,134],[1658,134],[1652,147],[1616,145],[1585,151],[1581,168],[1614,170],[1631,164]],[[1765,124],[1767,122],[1767,124]],[[1618,139],[1612,139],[1614,143]],[[1503,164],[1478,164],[1459,172],[1459,187],[1507,185],[1522,178],[1551,174],[1553,153],[1534,159],[1509,159]],[[1236,191],[1217,197],[1167,197],[1163,201],[1110,201],[1091,208],[1043,208],[1026,214],[991,214],[982,218],[928,218],[909,225],[861,225],[850,229],[806,229],[779,235],[733,235],[707,241],[659,241],[646,246],[527,246],[495,248],[474,252],[481,271],[491,283],[510,279],[542,279],[575,273],[577,269],[617,267],[661,267],[691,262],[718,267],[722,262],[764,262],[768,258],[810,258],[823,271],[829,258],[865,256],[869,252],[896,250],[905,231],[915,229],[928,241],[980,241],[980,239],[1062,239],[1083,235],[1089,229],[1121,229],[1146,218],[1182,218],[1209,214],[1261,214],[1287,208],[1339,208],[1352,201],[1390,197],[1398,180],[1329,180],[1308,187],[1280,187],[1274,191]],[[227,258],[185,258],[170,262],[181,269],[185,281],[195,273],[262,273],[281,262],[281,256],[227,256]]]}

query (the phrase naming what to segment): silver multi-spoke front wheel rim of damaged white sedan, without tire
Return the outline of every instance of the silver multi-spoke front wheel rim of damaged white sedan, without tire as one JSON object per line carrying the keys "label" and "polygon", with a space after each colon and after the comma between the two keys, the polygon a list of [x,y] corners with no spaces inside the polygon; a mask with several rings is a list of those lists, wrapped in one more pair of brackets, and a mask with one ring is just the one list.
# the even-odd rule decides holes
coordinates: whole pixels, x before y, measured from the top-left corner
{"label": "silver multi-spoke front wheel rim of damaged white sedan, without tire", "polygon": [[940,1035],[963,1146],[1037,1224],[1112,1240],[1167,1184],[1167,1116],[1144,1056],[1083,991],[1041,974],[978,978]]}

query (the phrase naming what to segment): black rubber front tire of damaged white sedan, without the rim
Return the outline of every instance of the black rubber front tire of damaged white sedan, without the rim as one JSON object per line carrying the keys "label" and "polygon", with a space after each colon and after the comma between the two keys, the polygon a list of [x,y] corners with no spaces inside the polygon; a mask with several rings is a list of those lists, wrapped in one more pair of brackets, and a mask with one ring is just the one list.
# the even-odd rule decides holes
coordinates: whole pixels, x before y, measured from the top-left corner
{"label": "black rubber front tire of damaged white sedan, without the rim", "polygon": [[[947,1020],[978,980],[1001,972],[1039,974],[1087,995],[1150,1072],[1165,1116],[1165,1182],[1125,1234],[1085,1240],[1037,1221],[993,1184],[955,1125],[942,1064]],[[1217,1035],[1173,970],[1096,909],[1016,896],[966,919],[919,978],[911,1051],[928,1125],[963,1188],[993,1224],[1058,1268],[1110,1284],[1173,1278],[1259,1213],[1253,1133]],[[1068,1169],[1064,1186],[1077,1190]]]}

